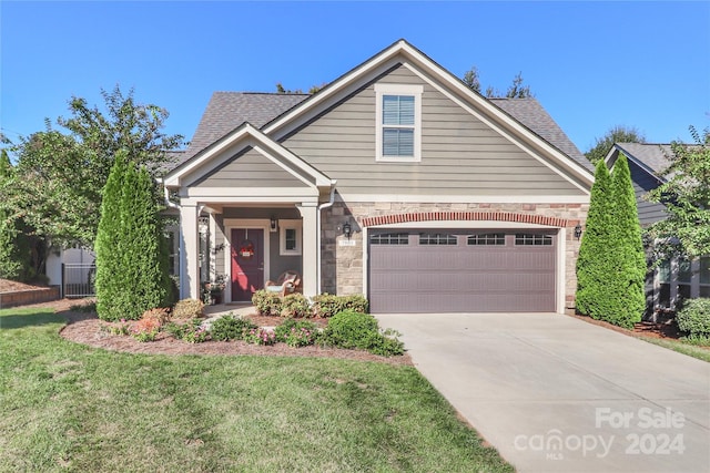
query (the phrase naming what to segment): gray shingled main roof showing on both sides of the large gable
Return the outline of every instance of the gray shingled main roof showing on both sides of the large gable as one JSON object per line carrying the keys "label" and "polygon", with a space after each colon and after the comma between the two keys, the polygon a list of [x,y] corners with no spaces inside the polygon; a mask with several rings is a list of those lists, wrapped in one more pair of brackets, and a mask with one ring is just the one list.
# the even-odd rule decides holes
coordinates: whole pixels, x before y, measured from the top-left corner
{"label": "gray shingled main roof showing on both sides of the large gable", "polygon": [[[308,94],[215,92],[187,150],[175,166],[200,153],[244,122],[261,128],[307,99]],[[490,99],[535,134],[594,172],[592,165],[535,99]]]}

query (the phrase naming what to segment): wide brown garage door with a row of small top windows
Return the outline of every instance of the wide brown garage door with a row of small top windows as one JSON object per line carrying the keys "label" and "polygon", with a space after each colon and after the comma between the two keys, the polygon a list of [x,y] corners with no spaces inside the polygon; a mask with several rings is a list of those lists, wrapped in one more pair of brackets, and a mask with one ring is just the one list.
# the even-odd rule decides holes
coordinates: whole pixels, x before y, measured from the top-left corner
{"label": "wide brown garage door with a row of small top windows", "polygon": [[374,230],[371,310],[555,311],[556,247],[554,232]]}

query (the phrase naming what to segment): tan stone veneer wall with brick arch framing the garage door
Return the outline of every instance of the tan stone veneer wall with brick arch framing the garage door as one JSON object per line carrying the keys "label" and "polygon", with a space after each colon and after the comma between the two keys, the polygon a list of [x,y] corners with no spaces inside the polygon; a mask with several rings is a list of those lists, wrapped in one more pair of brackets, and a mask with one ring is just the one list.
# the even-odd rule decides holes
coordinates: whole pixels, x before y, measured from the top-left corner
{"label": "tan stone veneer wall with brick arch framing the garage door", "polygon": [[[354,203],[336,202],[324,210],[322,219],[322,290],[323,292],[348,295],[363,294],[363,228],[366,217],[416,214],[422,212],[486,212],[542,215],[567,220],[565,254],[565,306],[575,307],[577,288],[576,265],[579,241],[574,228],[587,220],[588,204],[416,204],[416,203]],[[341,246],[346,240],[342,226],[349,220],[353,226],[351,240],[354,246]],[[416,223],[410,224],[412,227]],[[445,226],[445,225],[444,225]]]}

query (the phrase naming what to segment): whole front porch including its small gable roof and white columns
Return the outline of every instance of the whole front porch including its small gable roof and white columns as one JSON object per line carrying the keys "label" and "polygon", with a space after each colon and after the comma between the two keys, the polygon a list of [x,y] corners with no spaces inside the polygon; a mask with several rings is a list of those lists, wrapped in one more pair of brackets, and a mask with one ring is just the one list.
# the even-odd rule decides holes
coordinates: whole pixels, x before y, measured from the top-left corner
{"label": "whole front porch including its small gable roof and white columns", "polygon": [[287,269],[302,275],[305,296],[318,294],[320,210],[335,181],[243,123],[163,183],[180,197],[181,298],[199,298],[203,280],[224,275],[224,301],[251,300]]}

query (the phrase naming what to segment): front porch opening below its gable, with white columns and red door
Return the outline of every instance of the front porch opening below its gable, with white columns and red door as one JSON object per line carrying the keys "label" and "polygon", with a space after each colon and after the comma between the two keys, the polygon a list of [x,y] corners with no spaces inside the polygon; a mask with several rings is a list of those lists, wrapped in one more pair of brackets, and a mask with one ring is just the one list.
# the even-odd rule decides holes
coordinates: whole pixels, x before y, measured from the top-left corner
{"label": "front porch opening below its gable, with white columns and red door", "polygon": [[251,302],[287,270],[302,276],[304,295],[315,296],[318,224],[315,203],[181,206],[181,298],[200,298],[202,284],[223,277],[224,304]]}

